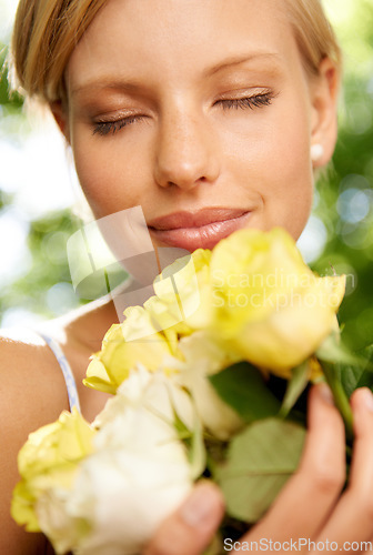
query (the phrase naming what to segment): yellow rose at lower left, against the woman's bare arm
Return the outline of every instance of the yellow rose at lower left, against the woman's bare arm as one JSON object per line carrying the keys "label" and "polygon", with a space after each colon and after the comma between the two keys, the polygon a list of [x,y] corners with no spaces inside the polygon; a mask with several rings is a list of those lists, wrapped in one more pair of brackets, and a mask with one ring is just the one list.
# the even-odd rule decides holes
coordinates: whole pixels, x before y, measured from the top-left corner
{"label": "yellow rose at lower left, against the woman's bare arm", "polygon": [[29,435],[18,455],[21,481],[14,488],[11,515],[29,532],[41,529],[38,503],[52,490],[71,486],[79,462],[93,451],[95,431],[74,408]]}

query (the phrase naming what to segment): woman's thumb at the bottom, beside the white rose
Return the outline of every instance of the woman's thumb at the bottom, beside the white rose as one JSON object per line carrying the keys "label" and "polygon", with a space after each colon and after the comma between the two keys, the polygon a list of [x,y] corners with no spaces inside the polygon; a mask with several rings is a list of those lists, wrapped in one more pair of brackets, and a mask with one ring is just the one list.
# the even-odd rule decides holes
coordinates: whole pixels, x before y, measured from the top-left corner
{"label": "woman's thumb at the bottom, beside the white rose", "polygon": [[200,555],[213,539],[223,515],[220,490],[201,482],[186,502],[161,524],[143,555]]}

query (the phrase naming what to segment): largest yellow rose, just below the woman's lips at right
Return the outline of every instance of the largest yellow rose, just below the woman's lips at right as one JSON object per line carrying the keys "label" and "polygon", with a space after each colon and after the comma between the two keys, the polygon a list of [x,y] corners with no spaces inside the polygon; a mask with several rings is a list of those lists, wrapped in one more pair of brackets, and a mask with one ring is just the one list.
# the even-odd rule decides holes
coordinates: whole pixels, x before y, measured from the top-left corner
{"label": "largest yellow rose, just below the woman's lips at right", "polygon": [[336,325],[344,276],[316,276],[282,229],[241,230],[211,259],[214,320],[226,349],[273,373],[315,352]]}

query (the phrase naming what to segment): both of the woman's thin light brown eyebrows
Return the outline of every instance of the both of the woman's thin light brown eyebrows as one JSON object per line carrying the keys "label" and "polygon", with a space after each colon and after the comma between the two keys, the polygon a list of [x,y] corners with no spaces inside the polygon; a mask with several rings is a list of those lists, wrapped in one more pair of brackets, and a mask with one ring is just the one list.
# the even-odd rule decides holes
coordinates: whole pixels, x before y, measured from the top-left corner
{"label": "both of the woman's thin light brown eyebrows", "polygon": [[[241,65],[244,63],[250,63],[254,61],[274,61],[276,64],[280,61],[280,56],[275,52],[252,52],[250,54],[234,56],[231,58],[226,58],[223,61],[212,65],[203,72],[203,77],[209,78],[220,73],[226,69],[234,68],[236,65]],[[139,89],[143,88],[140,82],[135,80],[127,80],[127,79],[112,79],[111,77],[102,75],[101,78],[92,79],[83,84],[80,84],[71,90],[72,94],[79,94],[87,90],[103,90],[103,89],[112,89],[112,90],[125,90],[128,92],[135,92]]]}

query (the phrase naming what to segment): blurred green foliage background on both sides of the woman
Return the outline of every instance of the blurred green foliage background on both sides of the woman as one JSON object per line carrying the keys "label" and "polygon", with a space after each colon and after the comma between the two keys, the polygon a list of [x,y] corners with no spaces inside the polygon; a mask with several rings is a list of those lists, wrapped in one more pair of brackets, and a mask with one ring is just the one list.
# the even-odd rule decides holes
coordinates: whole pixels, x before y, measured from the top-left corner
{"label": "blurred green foliage background on both sides of the woman", "polygon": [[[323,223],[326,240],[312,266],[323,275],[333,271],[347,274],[340,321],[347,343],[361,347],[373,342],[373,3],[326,0],[325,4],[337,16],[336,30],[346,56],[339,142],[331,167],[320,179],[313,212]],[[2,65],[6,44],[0,43],[0,52]],[[0,115],[24,118],[22,100],[9,99],[6,71],[0,80]],[[11,203],[12,196],[1,190],[0,180],[0,216]],[[62,295],[58,309],[48,302],[57,285],[71,289],[65,242],[78,228],[77,219],[65,210],[31,222],[28,244],[32,264],[24,275],[0,289],[0,323],[10,309],[52,317],[81,302],[78,297],[71,301],[71,295],[65,303]]]}

